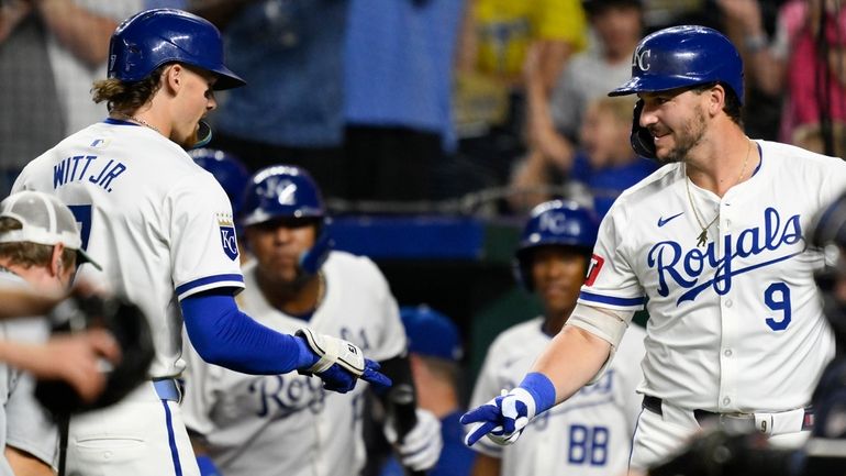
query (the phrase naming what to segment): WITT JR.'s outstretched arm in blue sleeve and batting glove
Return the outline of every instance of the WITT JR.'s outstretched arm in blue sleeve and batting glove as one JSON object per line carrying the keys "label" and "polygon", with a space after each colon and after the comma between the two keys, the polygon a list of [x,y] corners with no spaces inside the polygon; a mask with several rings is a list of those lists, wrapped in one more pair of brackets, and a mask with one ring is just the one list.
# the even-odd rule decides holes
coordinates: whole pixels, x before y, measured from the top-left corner
{"label": "WITT JR.'s outstretched arm in blue sleeve and batting glove", "polygon": [[[324,388],[346,392],[358,379],[389,386],[379,365],[364,358],[352,343],[325,335],[293,336],[274,331],[238,310],[224,291],[210,291],[180,302],[186,331],[203,361],[244,374],[313,374]],[[360,361],[357,359],[360,358]]]}

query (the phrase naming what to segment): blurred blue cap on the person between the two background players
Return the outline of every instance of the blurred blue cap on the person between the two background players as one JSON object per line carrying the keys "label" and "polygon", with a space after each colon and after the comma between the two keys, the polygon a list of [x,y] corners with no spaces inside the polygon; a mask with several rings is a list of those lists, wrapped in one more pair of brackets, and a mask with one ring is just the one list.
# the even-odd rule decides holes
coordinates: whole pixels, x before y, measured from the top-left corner
{"label": "blurred blue cap on the person between the two background players", "polygon": [[464,355],[458,328],[446,316],[428,306],[400,308],[400,319],[409,337],[409,352],[459,361]]}

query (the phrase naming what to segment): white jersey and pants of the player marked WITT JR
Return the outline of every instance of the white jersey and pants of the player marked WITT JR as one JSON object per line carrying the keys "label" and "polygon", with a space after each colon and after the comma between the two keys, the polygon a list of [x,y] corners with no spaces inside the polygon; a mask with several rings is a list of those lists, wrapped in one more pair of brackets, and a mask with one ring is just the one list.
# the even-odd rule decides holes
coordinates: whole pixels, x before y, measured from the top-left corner
{"label": "white jersey and pants of the player marked WITT JR", "polygon": [[[226,193],[176,143],[149,128],[107,120],[31,162],[13,189],[57,196],[77,218],[82,246],[102,265],[80,275],[125,295],[149,322],[153,378],[185,369],[179,300],[244,287]],[[153,383],[121,402],[75,416],[67,469],[101,476],[199,476],[179,405]]]}

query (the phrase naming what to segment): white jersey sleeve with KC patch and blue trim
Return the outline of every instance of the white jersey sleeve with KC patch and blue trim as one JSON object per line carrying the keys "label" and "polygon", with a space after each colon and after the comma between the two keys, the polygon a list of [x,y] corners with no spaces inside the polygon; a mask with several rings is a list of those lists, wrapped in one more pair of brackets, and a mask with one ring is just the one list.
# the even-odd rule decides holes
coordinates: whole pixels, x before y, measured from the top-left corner
{"label": "white jersey sleeve with KC patch and blue trim", "polygon": [[214,288],[244,288],[232,207],[211,174],[198,170],[168,193],[172,281],[179,300]]}

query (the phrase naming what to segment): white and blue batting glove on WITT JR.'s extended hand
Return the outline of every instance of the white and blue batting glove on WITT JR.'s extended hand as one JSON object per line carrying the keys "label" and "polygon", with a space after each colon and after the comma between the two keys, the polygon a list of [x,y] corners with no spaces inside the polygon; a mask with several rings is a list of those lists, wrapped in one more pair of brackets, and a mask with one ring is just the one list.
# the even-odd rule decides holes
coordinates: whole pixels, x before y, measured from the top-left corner
{"label": "white and blue batting glove on WITT JR.'s extended hand", "polygon": [[379,373],[379,364],[365,358],[361,350],[352,342],[314,334],[308,328],[300,329],[294,335],[302,339],[316,357],[310,367],[298,372],[316,375],[326,390],[346,394],[355,388],[359,378],[377,387],[391,386],[391,379]]}

